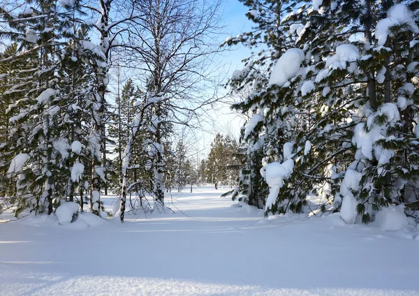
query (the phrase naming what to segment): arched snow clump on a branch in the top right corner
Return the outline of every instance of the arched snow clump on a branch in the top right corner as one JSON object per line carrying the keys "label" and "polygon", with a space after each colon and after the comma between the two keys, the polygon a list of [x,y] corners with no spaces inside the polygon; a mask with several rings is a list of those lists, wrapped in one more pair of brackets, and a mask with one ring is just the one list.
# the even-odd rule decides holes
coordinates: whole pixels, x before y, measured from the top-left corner
{"label": "arched snow clump on a branch in the top right corner", "polygon": [[390,28],[398,25],[406,24],[413,33],[418,33],[419,28],[413,19],[413,12],[406,4],[399,3],[390,7],[387,11],[387,17],[379,20],[376,24],[375,38],[378,45],[384,45],[387,41]]}

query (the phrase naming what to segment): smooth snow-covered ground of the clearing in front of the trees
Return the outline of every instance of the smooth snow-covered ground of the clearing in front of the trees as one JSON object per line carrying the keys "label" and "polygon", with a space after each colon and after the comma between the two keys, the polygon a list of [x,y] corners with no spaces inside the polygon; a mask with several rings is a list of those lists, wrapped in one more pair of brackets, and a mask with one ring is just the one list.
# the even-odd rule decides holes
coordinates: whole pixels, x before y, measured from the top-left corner
{"label": "smooth snow-covered ground of the clearing in front of the trees", "polygon": [[419,295],[412,230],[261,219],[225,191],[197,188],[174,196],[184,214],[123,225],[2,223],[0,295]]}

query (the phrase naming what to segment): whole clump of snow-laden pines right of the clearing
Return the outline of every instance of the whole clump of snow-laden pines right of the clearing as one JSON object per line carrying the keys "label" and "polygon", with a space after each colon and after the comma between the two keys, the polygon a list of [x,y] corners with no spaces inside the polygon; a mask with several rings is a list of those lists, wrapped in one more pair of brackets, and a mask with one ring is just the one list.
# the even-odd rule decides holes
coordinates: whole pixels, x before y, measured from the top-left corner
{"label": "whole clump of snow-laden pines right of the clearing", "polygon": [[253,50],[228,82],[248,118],[233,199],[418,218],[419,1],[240,1],[253,29],[223,43]]}

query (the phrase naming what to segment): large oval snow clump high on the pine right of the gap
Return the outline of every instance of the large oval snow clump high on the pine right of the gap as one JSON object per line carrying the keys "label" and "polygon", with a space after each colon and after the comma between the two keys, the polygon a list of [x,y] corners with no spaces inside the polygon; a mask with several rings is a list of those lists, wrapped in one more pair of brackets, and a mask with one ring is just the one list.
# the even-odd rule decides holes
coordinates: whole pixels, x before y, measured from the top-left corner
{"label": "large oval snow clump high on the pine right of the gap", "polygon": [[302,61],[304,61],[302,50],[291,48],[291,50],[284,52],[272,69],[268,85],[277,84],[279,87],[283,87],[289,79],[295,77],[300,71]]}

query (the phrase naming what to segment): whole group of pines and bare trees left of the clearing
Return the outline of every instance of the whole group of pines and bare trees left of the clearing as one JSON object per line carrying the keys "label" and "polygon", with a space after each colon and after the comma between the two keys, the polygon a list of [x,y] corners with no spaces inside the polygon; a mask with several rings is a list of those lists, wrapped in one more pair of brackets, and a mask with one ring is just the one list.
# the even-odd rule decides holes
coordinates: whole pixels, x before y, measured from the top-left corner
{"label": "whole group of pines and bare trees left of the clearing", "polygon": [[[182,149],[170,137],[216,101],[203,89],[215,83],[218,10],[197,0],[3,1],[0,212],[52,214],[67,200],[100,215],[108,188],[121,221],[133,192],[163,207],[165,184],[185,182],[180,165],[175,181],[165,173],[172,146]],[[118,90],[115,69],[132,77]]]}

